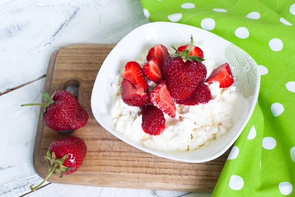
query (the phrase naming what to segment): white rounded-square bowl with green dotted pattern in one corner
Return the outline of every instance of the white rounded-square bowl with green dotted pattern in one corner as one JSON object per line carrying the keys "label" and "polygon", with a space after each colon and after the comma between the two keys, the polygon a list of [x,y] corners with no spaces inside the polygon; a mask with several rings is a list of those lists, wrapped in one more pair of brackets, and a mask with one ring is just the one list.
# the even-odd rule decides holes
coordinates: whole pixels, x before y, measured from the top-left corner
{"label": "white rounded-square bowl with green dotted pattern in one corner", "polygon": [[[228,62],[235,77],[237,89],[249,102],[249,109],[245,118],[239,119],[232,129],[222,138],[198,150],[186,152],[165,153],[149,149],[127,136],[113,129],[112,117],[108,109],[109,91],[111,83],[119,70],[124,68],[128,61],[134,61],[145,50],[155,44],[183,44],[189,43],[191,34],[194,41],[204,40],[210,48],[210,57],[220,65]],[[95,119],[107,131],[118,139],[129,143],[148,153],[183,162],[206,162],[222,155],[236,141],[253,113],[260,87],[260,75],[254,59],[246,52],[229,41],[204,29],[188,25],[168,22],[155,22],[134,29],[126,35],[107,56],[97,74],[92,95],[91,109]],[[99,135],[99,134],[97,134]]]}

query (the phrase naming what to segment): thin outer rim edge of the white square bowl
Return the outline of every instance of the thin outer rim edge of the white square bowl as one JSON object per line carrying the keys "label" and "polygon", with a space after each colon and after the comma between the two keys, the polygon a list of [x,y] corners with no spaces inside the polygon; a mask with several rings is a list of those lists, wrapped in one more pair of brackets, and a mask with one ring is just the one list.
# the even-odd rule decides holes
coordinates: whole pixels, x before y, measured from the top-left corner
{"label": "thin outer rim edge of the white square bowl", "polygon": [[[185,26],[185,27],[189,27],[189,28],[197,28],[197,27],[190,26],[190,25],[179,24],[179,23],[172,23],[172,22],[152,22],[152,23],[144,24],[144,25],[142,25],[142,26],[140,26],[140,27],[138,27],[138,28],[133,29],[133,30],[132,30],[131,32],[129,32],[126,36],[124,36],[124,37],[118,42],[118,44],[119,44],[123,39],[126,39],[126,37],[127,37],[128,35],[130,35],[130,34],[133,33],[134,31],[138,30],[139,28],[148,28],[148,27],[163,26],[163,25],[165,25],[165,26],[167,26],[167,25],[169,25],[169,26],[174,26],[174,28],[181,28],[181,27],[184,27],[184,26]],[[204,29],[202,29],[202,28],[197,28],[197,29],[202,30],[202,31],[206,31],[206,32],[209,33],[209,34],[213,34],[213,35],[215,35],[215,36],[218,36],[218,35],[216,35],[216,34],[210,32],[210,31],[204,30]],[[221,39],[224,39],[224,38],[222,38],[222,37],[220,37],[220,36],[218,36],[218,37],[221,38]],[[226,39],[224,39],[224,40],[226,40]],[[232,45],[236,46],[236,45],[233,44],[232,42],[230,42],[230,41],[228,41],[228,40],[226,40],[226,41],[229,42],[229,43],[231,43]],[[115,49],[118,48],[118,44],[114,47],[113,50],[115,50]],[[236,46],[236,47],[239,48],[238,46]],[[241,49],[241,48],[239,48],[239,49]],[[112,51],[113,51],[113,50],[112,50]],[[241,49],[241,50],[242,50],[242,49]],[[112,53],[112,51],[109,53],[109,55]],[[245,52],[244,50],[242,50],[242,51]],[[247,55],[249,55],[247,52],[245,52],[245,53],[246,53]],[[108,58],[110,58],[109,55],[106,57],[106,59],[105,59],[104,62],[102,63],[101,68],[103,67],[105,61],[108,60]],[[250,55],[249,55],[249,56],[250,56]],[[250,56],[250,57],[253,59],[253,61],[254,61],[255,64],[257,65],[257,63],[256,63],[256,61],[254,60],[254,58],[253,58],[252,56]],[[214,160],[214,159],[220,157],[222,154],[224,154],[224,153],[225,153],[225,152],[226,152],[226,151],[227,151],[227,150],[228,150],[228,149],[229,149],[229,148],[235,143],[236,139],[240,136],[241,132],[244,130],[246,124],[248,124],[249,119],[250,119],[250,117],[252,116],[252,114],[253,114],[253,112],[254,112],[254,109],[255,109],[255,106],[256,106],[256,102],[255,102],[255,100],[258,99],[258,95],[259,95],[259,91],[260,91],[260,83],[261,83],[261,76],[260,76],[260,74],[259,74],[259,72],[258,72],[258,70],[257,70],[257,73],[258,73],[258,79],[257,79],[256,91],[255,91],[255,94],[253,95],[253,103],[252,103],[252,105],[250,105],[249,113],[248,113],[248,115],[246,116],[246,118],[245,118],[243,124],[241,125],[241,127],[239,128],[239,130],[236,132],[235,136],[230,140],[230,142],[229,142],[226,146],[224,146],[224,148],[220,149],[216,154],[214,154],[214,155],[212,155],[212,156],[210,156],[210,157],[204,158],[204,159],[183,159],[183,158],[179,158],[179,157],[177,157],[177,156],[167,155],[168,152],[165,153],[165,152],[159,152],[159,151],[156,151],[156,150],[148,149],[147,147],[145,147],[145,146],[143,146],[143,145],[139,145],[139,144],[137,144],[135,141],[129,139],[127,136],[126,136],[126,139],[121,139],[121,138],[119,137],[119,134],[120,134],[120,133],[119,133],[118,131],[115,131],[115,130],[114,130],[114,131],[112,131],[112,130],[109,131],[108,129],[106,129],[106,127],[105,127],[106,125],[104,124],[104,122],[103,122],[103,121],[99,121],[98,116],[97,116],[95,113],[93,113],[93,112],[94,112],[94,110],[93,110],[93,108],[94,108],[93,103],[95,102],[94,99],[93,99],[93,93],[94,93],[94,89],[95,89],[95,87],[97,86],[97,79],[98,79],[98,76],[99,76],[99,72],[100,72],[100,71],[98,71],[98,73],[97,73],[97,76],[96,76],[96,79],[95,79],[95,82],[94,82],[94,85],[93,85],[93,88],[92,88],[92,93],[91,93],[91,111],[92,111],[92,114],[93,114],[95,120],[96,120],[96,121],[97,121],[97,122],[98,122],[98,123],[99,123],[99,124],[105,129],[105,130],[107,130],[107,131],[110,132],[112,135],[114,135],[115,137],[117,137],[119,140],[124,141],[125,143],[127,143],[127,144],[129,144],[129,145],[132,145],[132,146],[134,146],[134,147],[136,147],[136,148],[138,148],[138,149],[140,149],[140,150],[143,150],[143,151],[145,151],[145,152],[148,152],[148,153],[150,153],[150,154],[153,154],[153,155],[156,155],[156,156],[159,156],[159,157],[163,157],[163,158],[171,159],[171,160],[176,160],[176,161],[180,161],[180,162],[188,162],[188,163],[203,163],[203,162],[207,162],[207,161]],[[123,134],[123,135],[124,135],[124,134]]]}

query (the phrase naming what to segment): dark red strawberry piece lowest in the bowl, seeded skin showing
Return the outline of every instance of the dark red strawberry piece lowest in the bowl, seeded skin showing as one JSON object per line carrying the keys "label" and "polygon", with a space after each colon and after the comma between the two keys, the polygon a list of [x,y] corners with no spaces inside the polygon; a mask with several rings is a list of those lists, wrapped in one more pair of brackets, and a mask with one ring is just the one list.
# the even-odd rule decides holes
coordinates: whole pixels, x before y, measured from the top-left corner
{"label": "dark red strawberry piece lowest in the bowl, seeded skin showing", "polygon": [[145,133],[153,136],[160,135],[165,129],[164,114],[158,108],[146,105],[143,107],[141,114],[143,116],[142,128]]}

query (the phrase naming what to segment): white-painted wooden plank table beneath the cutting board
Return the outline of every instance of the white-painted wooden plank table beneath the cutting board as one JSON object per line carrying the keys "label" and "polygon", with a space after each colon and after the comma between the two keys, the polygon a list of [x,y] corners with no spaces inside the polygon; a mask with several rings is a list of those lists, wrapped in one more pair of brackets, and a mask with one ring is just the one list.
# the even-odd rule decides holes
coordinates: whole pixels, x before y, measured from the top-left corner
{"label": "white-painted wooden plank table beneath the cutting board", "polygon": [[118,43],[148,19],[139,0],[0,0],[0,197],[210,197],[211,194],[61,185],[32,153],[49,57],[70,43]]}

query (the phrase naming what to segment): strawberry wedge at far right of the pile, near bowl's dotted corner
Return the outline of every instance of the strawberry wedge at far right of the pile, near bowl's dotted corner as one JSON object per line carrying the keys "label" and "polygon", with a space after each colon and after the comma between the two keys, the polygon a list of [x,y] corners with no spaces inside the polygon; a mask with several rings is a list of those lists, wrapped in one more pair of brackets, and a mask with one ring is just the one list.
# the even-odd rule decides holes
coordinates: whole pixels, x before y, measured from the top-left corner
{"label": "strawberry wedge at far right of the pile, near bowl's dotted corner", "polygon": [[234,84],[234,77],[228,63],[224,63],[213,70],[207,83],[219,82],[219,87],[229,87]]}

